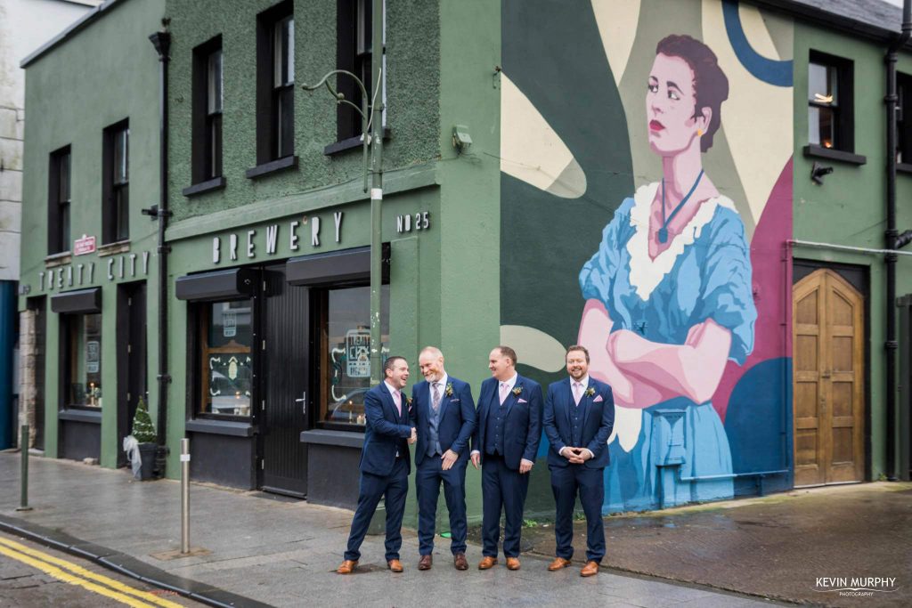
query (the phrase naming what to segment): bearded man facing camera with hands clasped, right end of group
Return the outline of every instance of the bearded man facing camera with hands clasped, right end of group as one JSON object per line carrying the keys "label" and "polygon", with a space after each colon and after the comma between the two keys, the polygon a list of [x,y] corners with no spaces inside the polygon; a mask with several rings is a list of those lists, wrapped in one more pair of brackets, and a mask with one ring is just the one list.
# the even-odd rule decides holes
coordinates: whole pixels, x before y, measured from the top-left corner
{"label": "bearded man facing camera with hands clasped, right end of group", "polygon": [[551,572],[570,565],[573,557],[573,510],[576,495],[586,513],[586,565],[581,576],[598,573],[605,557],[603,473],[608,464],[607,438],[615,424],[611,387],[589,376],[589,351],[573,345],[566,353],[569,377],[548,386],[544,399],[544,435],[548,448],[551,489],[557,503],[554,536],[557,556]]}

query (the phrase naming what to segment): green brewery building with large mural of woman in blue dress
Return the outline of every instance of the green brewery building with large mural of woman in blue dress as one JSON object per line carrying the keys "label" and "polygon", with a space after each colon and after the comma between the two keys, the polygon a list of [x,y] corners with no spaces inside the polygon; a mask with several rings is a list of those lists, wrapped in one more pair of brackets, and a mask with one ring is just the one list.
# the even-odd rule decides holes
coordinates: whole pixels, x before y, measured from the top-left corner
{"label": "green brewery building with large mural of woman in blue dress", "polygon": [[[301,85],[336,68],[369,72],[369,4],[163,8],[171,36],[168,316],[164,334],[149,332],[147,377],[171,378],[169,477],[189,437],[194,479],[354,505],[370,371],[360,122],[326,90]],[[141,87],[102,102],[90,96],[110,89],[83,77],[95,111],[79,116],[110,115],[89,129],[73,114],[87,104],[62,105],[38,84],[73,71],[71,56],[52,46],[30,60],[29,115],[46,108],[54,119],[26,133],[26,200],[38,202],[26,212],[23,234],[32,238],[23,242],[48,232],[48,155],[69,144],[76,160],[84,137],[101,162],[100,133],[129,116],[131,145],[140,129],[148,137],[141,150],[130,148],[130,244],[114,255],[149,253],[142,278],[149,326],[157,327],[157,224],[139,213],[159,195],[159,108],[150,101],[159,67],[146,38],[162,8],[108,6],[110,15],[91,26],[99,36],[74,34],[57,46],[129,45],[118,60],[141,63],[127,70]],[[564,376],[566,345],[586,345],[593,375],[616,397],[605,512],[907,477],[908,397],[887,386],[881,251],[884,57],[899,17],[852,6],[389,3],[384,356],[406,356],[413,384],[420,348],[438,345],[447,371],[477,397],[494,345],[513,346],[519,372],[543,386]],[[142,26],[136,18],[116,35],[102,31],[140,11],[150,11]],[[905,50],[897,69],[902,90],[912,91]],[[123,83],[117,71],[92,74]],[[350,82],[333,82],[358,103]],[[900,99],[905,111],[912,93]],[[129,100],[143,109],[122,105]],[[912,224],[906,124],[898,129],[898,232]],[[88,130],[77,138],[56,125]],[[74,209],[78,189],[98,201],[100,169],[83,167],[77,178],[73,167]],[[691,186],[695,202],[665,222],[662,196],[682,201]],[[89,221],[96,225],[77,227]],[[73,232],[100,235],[98,224],[86,213]],[[73,255],[59,266],[61,279],[59,258],[24,246],[23,282],[33,291],[20,308],[44,311],[41,296],[52,302],[70,288],[101,287],[99,453],[113,467],[119,437],[107,386],[119,382],[119,366],[106,362],[119,360],[117,290],[134,277],[109,279],[100,255]],[[66,268],[77,259],[95,261],[95,275],[71,287]],[[909,263],[898,255],[897,296],[912,292]],[[42,272],[52,283],[41,283]],[[58,414],[62,380],[51,381],[50,360],[62,338],[47,318],[47,432],[59,437],[63,425],[66,437],[66,425],[88,423],[81,413],[67,419],[67,407]],[[160,339],[165,370],[153,363]],[[896,335],[897,378],[908,344]],[[157,419],[156,383],[148,387]],[[61,446],[47,450],[70,457]],[[554,509],[547,449],[543,438],[532,518]],[[473,521],[480,486],[469,468]],[[413,520],[413,506],[409,513]]]}

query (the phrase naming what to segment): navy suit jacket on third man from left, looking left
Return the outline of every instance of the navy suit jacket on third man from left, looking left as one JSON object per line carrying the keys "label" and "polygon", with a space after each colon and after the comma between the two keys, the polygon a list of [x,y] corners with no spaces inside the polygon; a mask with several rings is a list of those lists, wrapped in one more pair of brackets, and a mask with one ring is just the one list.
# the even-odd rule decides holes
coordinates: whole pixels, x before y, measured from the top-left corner
{"label": "navy suit jacket on third man from left, looking left", "polygon": [[[500,403],[499,386],[497,378],[488,378],[482,382],[478,395],[478,424],[472,434],[472,450],[482,453],[482,462],[488,410],[492,399]],[[503,402],[507,408],[503,421],[503,462],[509,469],[519,469],[519,461],[523,459],[534,462],[542,438],[542,387],[534,380],[517,376],[513,390],[517,388],[521,389],[519,395],[511,392]]]}

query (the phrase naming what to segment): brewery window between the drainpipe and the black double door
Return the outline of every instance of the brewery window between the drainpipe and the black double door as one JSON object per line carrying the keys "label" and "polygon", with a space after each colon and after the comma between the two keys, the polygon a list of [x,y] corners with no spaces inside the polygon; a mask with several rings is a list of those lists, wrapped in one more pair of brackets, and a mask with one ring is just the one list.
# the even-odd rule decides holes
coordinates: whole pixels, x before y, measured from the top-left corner
{"label": "brewery window between the drainpipe and the black double door", "polygon": [[201,304],[200,413],[250,416],[253,300]]}

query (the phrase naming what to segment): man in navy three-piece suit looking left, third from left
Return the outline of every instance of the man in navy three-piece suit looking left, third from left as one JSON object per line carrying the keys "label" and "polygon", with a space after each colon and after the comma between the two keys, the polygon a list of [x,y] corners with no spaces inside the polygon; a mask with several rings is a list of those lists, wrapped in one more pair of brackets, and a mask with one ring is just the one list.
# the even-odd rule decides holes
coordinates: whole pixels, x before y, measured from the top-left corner
{"label": "man in navy three-piece suit looking left, third from left", "polygon": [[493,377],[482,382],[478,423],[472,435],[472,466],[482,463],[482,561],[479,570],[497,563],[497,541],[503,530],[507,568],[519,570],[519,541],[529,471],[542,433],[542,387],[516,373],[516,352],[509,346],[491,351]]}

